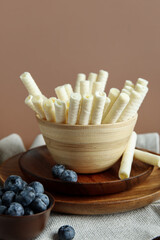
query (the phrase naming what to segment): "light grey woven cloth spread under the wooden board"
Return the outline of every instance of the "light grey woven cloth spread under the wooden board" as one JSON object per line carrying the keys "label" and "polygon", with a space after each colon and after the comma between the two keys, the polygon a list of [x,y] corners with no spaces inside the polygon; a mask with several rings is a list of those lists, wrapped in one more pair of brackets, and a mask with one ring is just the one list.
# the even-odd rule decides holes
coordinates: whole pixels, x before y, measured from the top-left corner
{"label": "light grey woven cloth spread under the wooden board", "polygon": [[[159,150],[157,133],[140,134],[138,139],[137,147],[153,152]],[[38,135],[31,148],[43,145],[43,141]],[[12,142],[10,138],[8,142]],[[7,152],[6,144],[4,146],[4,152]],[[12,155],[15,155],[14,151]],[[141,209],[117,214],[81,216],[53,213],[45,230],[35,240],[58,240],[57,232],[62,225],[74,227],[75,240],[152,240],[160,235],[160,200]]]}

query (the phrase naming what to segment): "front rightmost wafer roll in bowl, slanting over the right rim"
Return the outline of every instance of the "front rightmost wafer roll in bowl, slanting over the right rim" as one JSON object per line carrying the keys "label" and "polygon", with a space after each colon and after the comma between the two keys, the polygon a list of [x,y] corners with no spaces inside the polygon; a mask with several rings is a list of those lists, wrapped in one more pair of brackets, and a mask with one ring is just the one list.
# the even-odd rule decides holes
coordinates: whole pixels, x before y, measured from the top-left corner
{"label": "front rightmost wafer roll in bowl, slanting over the right rim", "polygon": [[127,104],[126,108],[123,110],[121,116],[118,119],[118,122],[128,120],[131,117],[135,116],[138,109],[140,108],[141,103],[142,96],[138,92],[133,90],[130,95],[130,101]]}

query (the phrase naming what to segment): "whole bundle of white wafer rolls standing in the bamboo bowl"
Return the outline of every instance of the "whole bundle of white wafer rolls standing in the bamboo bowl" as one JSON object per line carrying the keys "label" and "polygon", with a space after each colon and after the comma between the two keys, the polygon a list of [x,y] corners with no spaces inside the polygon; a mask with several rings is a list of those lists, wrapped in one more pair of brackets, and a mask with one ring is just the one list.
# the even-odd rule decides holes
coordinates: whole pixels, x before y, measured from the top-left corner
{"label": "whole bundle of white wafer rolls standing in the bamboo bowl", "polygon": [[70,125],[99,125],[126,121],[138,112],[147,92],[148,81],[138,78],[136,84],[126,80],[122,90],[105,92],[108,72],[79,73],[74,90],[70,84],[55,88],[56,97],[45,97],[28,72],[20,76],[29,96],[25,103],[37,117]]}

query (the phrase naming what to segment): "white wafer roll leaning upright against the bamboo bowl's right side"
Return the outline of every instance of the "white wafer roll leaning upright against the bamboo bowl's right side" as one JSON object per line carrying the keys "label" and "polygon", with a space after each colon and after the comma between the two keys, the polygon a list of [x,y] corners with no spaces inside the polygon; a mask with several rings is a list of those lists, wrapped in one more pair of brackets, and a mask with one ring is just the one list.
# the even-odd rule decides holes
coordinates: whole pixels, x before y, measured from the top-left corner
{"label": "white wafer roll leaning upright against the bamboo bowl's right side", "polygon": [[122,156],[121,165],[118,173],[120,179],[126,179],[130,177],[136,140],[137,134],[133,132]]}

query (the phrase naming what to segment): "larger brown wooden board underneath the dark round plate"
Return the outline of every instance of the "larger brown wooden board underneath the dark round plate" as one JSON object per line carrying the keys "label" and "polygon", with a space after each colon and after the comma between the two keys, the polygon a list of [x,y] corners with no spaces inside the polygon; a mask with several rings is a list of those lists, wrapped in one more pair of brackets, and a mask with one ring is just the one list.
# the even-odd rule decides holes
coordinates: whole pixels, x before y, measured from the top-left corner
{"label": "larger brown wooden board underneath the dark round plate", "polygon": [[[20,175],[25,179],[18,164],[20,156],[21,154],[10,158],[0,166],[2,182],[11,174]],[[155,167],[143,183],[125,192],[95,197],[54,194],[54,197],[54,211],[60,213],[94,215],[130,211],[147,206],[160,198],[160,169]]]}

